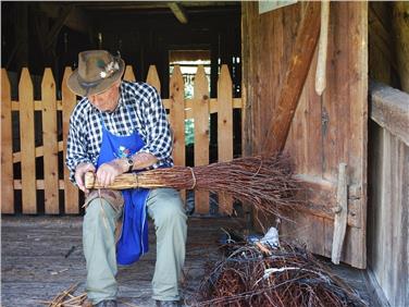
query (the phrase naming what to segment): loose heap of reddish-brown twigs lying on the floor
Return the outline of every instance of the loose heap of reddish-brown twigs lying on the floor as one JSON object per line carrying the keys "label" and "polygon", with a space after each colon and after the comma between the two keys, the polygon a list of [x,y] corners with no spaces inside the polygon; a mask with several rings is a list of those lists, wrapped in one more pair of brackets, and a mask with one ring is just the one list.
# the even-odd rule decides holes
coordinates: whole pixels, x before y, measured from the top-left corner
{"label": "loose heap of reddish-brown twigs lying on the floor", "polygon": [[281,243],[269,256],[249,244],[227,249],[188,306],[367,306],[303,247]]}

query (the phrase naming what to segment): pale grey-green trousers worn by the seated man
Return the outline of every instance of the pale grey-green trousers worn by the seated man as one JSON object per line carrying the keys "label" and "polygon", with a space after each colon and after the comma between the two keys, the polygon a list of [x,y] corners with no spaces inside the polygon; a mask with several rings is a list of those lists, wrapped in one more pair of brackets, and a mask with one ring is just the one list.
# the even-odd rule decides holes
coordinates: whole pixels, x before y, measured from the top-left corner
{"label": "pale grey-green trousers worn by the seated man", "polygon": [[[103,210],[102,210],[103,208]],[[157,262],[152,279],[152,298],[178,300],[178,282],[185,261],[186,214],[177,191],[151,189],[147,199],[148,214],[154,221]],[[98,304],[115,299],[117,273],[115,224],[122,209],[103,198],[87,204],[83,224],[84,255],[87,263],[88,299]]]}

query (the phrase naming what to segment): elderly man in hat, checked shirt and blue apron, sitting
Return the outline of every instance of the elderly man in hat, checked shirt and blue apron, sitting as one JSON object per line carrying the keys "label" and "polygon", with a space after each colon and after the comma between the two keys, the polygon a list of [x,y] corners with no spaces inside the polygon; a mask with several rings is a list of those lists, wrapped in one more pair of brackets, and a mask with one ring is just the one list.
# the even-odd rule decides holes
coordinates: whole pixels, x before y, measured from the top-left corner
{"label": "elderly man in hat, checked shirt and blue apron, sitting", "polygon": [[178,306],[186,244],[186,214],[178,193],[172,188],[89,193],[84,185],[86,172],[95,172],[108,186],[120,174],[173,164],[170,125],[157,90],[146,83],[121,81],[124,67],[124,61],[108,51],[84,51],[67,82],[83,97],[70,120],[66,165],[72,181],[87,195],[83,225],[87,296],[94,306],[116,306],[116,263],[131,265],[147,251],[149,213],[157,234],[152,297],[157,306]]}

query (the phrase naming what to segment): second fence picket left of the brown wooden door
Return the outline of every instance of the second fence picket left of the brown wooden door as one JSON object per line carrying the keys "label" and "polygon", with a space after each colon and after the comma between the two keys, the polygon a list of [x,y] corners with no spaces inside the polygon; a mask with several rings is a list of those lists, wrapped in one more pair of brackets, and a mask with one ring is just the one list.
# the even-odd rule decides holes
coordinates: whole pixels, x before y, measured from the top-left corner
{"label": "second fence picket left of the brown wooden door", "polygon": [[[194,121],[195,121],[195,167],[209,164],[209,82],[203,65],[195,76]],[[209,212],[209,193],[195,193],[195,212]]]}

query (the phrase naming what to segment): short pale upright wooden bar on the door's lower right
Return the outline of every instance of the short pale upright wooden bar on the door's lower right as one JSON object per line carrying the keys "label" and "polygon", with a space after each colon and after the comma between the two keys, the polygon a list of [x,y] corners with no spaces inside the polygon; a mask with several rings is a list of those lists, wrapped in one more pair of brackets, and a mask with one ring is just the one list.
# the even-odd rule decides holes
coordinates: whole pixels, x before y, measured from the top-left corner
{"label": "short pale upright wooden bar on the door's lower right", "polygon": [[348,221],[348,177],[347,164],[340,163],[338,167],[338,184],[336,191],[336,207],[334,208],[334,235],[331,260],[339,265],[340,254]]}

